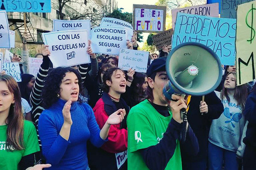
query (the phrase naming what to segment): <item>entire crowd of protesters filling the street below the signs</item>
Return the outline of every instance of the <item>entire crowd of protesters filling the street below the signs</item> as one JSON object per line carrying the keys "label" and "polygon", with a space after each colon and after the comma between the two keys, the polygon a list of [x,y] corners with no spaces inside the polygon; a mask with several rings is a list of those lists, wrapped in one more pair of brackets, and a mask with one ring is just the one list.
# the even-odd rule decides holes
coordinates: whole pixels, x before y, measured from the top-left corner
{"label": "entire crowd of protesters filling the street below the signs", "polygon": [[[136,49],[137,37],[127,40]],[[0,169],[255,169],[256,87],[236,85],[225,66],[216,91],[172,95],[164,46],[149,56],[147,74],[118,67],[118,56],[95,54],[90,64],[52,68],[48,46],[34,77],[23,35],[20,83],[0,74]],[[181,142],[180,110],[187,109]]]}

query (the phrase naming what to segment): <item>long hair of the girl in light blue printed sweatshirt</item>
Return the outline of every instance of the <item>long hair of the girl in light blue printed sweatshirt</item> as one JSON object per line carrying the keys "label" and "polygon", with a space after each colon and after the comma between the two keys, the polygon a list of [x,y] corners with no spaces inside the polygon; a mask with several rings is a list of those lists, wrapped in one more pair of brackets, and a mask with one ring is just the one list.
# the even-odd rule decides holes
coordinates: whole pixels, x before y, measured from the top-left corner
{"label": "long hair of the girl in light blue printed sweatshirt", "polygon": [[[233,73],[233,72],[228,73],[226,78],[228,77],[229,74],[233,74],[236,79],[236,73]],[[235,85],[236,85],[236,83],[235,83]],[[248,91],[247,91],[246,84],[235,87],[234,99],[237,101],[237,104],[240,105],[242,109],[245,108],[247,95],[248,95]],[[227,89],[225,89],[225,87],[223,85],[222,91],[221,91],[221,99],[224,99],[224,97],[227,98],[228,102],[230,102],[230,98],[228,96]]]}

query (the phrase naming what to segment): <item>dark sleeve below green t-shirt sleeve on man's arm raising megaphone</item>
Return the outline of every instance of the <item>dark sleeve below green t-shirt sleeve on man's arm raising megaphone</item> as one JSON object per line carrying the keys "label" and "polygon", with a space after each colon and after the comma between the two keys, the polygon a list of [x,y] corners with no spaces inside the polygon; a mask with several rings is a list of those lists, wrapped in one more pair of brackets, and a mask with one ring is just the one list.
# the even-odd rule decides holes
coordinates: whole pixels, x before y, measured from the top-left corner
{"label": "dark sleeve below green t-shirt sleeve on man's arm raising megaphone", "polygon": [[155,146],[141,149],[143,160],[149,169],[160,170],[166,168],[175,152],[176,141],[181,129],[182,124],[171,119],[162,140]]}

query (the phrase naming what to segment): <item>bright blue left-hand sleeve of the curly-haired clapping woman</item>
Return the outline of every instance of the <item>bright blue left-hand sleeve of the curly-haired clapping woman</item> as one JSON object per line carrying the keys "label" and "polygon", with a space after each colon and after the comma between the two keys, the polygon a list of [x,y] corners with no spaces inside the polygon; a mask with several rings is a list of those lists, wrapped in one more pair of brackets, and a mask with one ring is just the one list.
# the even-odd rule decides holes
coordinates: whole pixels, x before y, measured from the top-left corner
{"label": "bright blue left-hand sleeve of the curly-haired clapping woman", "polygon": [[57,122],[47,114],[41,114],[39,117],[38,130],[42,144],[42,154],[45,156],[47,163],[58,165],[70,142],[58,134]]}

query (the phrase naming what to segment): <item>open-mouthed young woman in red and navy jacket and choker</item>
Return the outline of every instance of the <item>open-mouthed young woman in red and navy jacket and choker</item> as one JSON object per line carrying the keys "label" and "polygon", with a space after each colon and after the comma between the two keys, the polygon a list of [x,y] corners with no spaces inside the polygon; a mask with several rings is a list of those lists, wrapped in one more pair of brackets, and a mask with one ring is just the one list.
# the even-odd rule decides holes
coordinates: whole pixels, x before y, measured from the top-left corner
{"label": "open-mouthed young woman in red and navy jacket and choker", "polygon": [[[126,90],[126,77],[120,68],[109,68],[103,75],[103,95],[93,108],[100,128],[116,111],[128,114],[129,106],[120,98]],[[112,125],[108,141],[100,149],[90,149],[89,167],[91,169],[127,169],[127,125],[123,122]]]}

